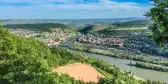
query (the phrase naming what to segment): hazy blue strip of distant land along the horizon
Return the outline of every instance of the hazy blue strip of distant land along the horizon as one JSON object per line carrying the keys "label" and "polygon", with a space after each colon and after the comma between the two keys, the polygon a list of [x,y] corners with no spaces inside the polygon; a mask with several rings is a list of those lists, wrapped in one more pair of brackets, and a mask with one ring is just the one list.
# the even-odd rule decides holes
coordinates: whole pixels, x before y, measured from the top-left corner
{"label": "hazy blue strip of distant land along the horizon", "polygon": [[123,21],[131,21],[131,20],[148,20],[147,18],[136,18],[136,17],[128,17],[128,18],[103,18],[103,19],[2,19],[0,21],[3,24],[34,24],[34,23],[88,23],[88,22],[104,22],[104,23],[116,23]]}

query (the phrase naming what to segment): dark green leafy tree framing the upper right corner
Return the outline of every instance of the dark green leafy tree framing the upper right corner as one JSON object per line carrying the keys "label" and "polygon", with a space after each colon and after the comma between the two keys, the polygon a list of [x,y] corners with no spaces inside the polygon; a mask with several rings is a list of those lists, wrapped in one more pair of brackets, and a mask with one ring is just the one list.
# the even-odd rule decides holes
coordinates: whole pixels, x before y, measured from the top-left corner
{"label": "dark green leafy tree framing the upper right corner", "polygon": [[168,0],[152,0],[154,6],[145,14],[151,18],[153,24],[149,27],[151,37],[158,44],[168,43],[168,12],[165,9],[168,7]]}

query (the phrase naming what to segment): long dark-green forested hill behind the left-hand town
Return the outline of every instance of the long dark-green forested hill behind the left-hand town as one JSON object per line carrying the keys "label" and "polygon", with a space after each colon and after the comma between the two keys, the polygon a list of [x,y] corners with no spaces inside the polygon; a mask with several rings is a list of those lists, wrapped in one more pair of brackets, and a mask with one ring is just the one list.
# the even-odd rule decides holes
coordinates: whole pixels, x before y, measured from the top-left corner
{"label": "long dark-green forested hill behind the left-hand town", "polygon": [[68,25],[60,23],[36,23],[36,24],[8,24],[4,25],[4,28],[10,29],[31,29],[31,30],[40,30],[40,31],[49,31],[50,28],[69,28]]}

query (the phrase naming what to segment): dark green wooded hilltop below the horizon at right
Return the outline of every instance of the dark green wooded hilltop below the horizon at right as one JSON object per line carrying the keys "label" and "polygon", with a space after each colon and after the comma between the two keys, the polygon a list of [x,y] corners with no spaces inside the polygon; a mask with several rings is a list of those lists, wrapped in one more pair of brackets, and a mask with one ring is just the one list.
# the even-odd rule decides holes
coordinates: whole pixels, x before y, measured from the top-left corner
{"label": "dark green wooded hilltop below the horizon at right", "polygon": [[116,27],[148,27],[152,24],[151,20],[135,20],[121,23],[114,23]]}

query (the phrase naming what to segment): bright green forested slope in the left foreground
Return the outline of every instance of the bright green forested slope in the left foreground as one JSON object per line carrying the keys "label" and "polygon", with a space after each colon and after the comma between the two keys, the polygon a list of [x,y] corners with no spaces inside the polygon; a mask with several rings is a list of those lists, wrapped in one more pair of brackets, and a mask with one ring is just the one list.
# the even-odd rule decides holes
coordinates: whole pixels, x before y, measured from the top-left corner
{"label": "bright green forested slope in the left foreground", "polygon": [[75,59],[84,58],[0,28],[0,84],[85,84],[50,70]]}

